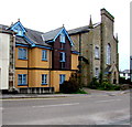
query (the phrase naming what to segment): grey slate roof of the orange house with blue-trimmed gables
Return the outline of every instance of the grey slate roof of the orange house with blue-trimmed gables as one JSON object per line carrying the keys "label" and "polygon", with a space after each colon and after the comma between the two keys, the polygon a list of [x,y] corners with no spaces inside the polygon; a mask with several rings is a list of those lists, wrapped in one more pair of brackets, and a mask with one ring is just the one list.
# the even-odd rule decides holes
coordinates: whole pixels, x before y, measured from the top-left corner
{"label": "grey slate roof of the orange house with blue-trimmed gables", "polygon": [[[7,30],[7,29],[9,29],[11,27],[0,24],[0,28]],[[55,30],[52,30],[52,31],[48,31],[48,32],[45,32],[45,33],[24,28],[25,31],[26,31],[25,32],[26,38],[16,35],[15,36],[15,42],[18,44],[31,44],[31,41],[32,41],[36,45],[52,46],[46,42],[47,41],[53,41],[57,36],[57,34],[61,32],[61,30],[64,27],[61,27],[58,29],[55,29]],[[72,46],[72,51],[75,51],[74,46]]]}

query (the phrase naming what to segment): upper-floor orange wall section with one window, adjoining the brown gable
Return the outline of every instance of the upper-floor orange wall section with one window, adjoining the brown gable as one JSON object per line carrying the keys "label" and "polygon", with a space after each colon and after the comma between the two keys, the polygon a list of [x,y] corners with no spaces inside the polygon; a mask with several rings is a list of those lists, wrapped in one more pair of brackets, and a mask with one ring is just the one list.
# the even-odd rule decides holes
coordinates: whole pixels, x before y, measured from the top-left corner
{"label": "upper-floor orange wall section with one window, adjoining the brown gable", "polygon": [[[50,59],[52,62],[52,51],[47,51],[47,61],[42,61],[42,50],[41,47],[33,47],[29,50],[29,65],[30,67],[42,67],[42,68],[50,68]],[[50,57],[51,55],[51,57]]]}

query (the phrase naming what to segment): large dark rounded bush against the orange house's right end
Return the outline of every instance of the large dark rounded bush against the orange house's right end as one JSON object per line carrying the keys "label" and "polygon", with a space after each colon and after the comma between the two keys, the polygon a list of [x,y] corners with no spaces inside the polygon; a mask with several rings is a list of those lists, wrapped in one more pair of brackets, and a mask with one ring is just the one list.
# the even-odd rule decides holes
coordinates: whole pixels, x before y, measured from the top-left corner
{"label": "large dark rounded bush against the orange house's right end", "polygon": [[79,82],[79,75],[72,74],[69,81],[65,81],[61,85],[61,92],[65,94],[72,94],[79,92],[81,89],[82,85]]}

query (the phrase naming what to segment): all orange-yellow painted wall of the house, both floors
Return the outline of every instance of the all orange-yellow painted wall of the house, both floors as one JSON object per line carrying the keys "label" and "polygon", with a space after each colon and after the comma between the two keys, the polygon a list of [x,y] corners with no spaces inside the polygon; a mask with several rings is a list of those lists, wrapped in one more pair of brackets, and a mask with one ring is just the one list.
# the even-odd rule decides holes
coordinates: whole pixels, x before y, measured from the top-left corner
{"label": "all orange-yellow painted wall of the house, both floors", "polygon": [[[26,49],[26,47],[24,47]],[[29,49],[28,60],[18,60],[18,47],[15,51],[15,67],[40,67],[50,68],[52,66],[52,51],[47,50],[47,61],[42,61],[41,47]],[[51,55],[51,63],[50,63]],[[72,70],[78,70],[78,55],[72,54]],[[59,92],[59,74],[66,75],[66,81],[69,80],[70,74],[75,71],[46,71],[46,70],[15,70],[15,87],[54,87],[55,92]],[[28,86],[18,86],[18,74],[28,74]],[[47,74],[47,85],[42,85],[42,74]],[[50,76],[51,75],[51,76]]]}

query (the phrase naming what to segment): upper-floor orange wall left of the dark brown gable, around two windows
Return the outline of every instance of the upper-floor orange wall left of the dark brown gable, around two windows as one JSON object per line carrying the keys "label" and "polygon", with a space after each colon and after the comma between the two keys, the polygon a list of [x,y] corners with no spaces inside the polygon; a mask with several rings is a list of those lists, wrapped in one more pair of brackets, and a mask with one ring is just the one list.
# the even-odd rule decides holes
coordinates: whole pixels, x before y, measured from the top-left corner
{"label": "upper-floor orange wall left of the dark brown gable, around two windows", "polygon": [[[42,68],[50,68],[52,66],[52,51],[47,51],[47,61],[42,61],[42,50],[41,47],[33,47],[33,49],[28,49],[28,47],[22,47],[22,49],[28,49],[28,60],[19,60],[19,47],[22,46],[16,46],[15,47],[15,67],[42,67]],[[51,59],[51,63],[50,63]],[[29,65],[28,65],[29,64]]]}

